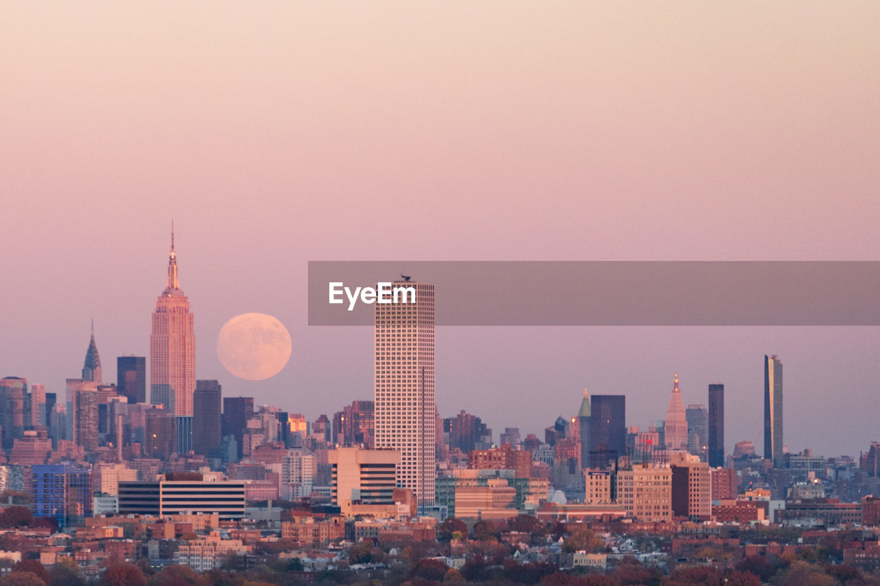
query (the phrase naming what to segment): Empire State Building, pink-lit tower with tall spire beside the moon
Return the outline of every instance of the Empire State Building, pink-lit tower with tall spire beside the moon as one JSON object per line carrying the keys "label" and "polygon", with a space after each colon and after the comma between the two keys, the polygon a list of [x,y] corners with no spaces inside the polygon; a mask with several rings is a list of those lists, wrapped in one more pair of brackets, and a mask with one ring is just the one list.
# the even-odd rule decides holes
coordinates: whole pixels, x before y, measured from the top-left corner
{"label": "Empire State Building, pink-lit tower with tall spire beside the moon", "polygon": [[172,230],[168,281],[156,302],[150,334],[150,401],[174,415],[179,454],[192,449],[194,392],[194,315],[178,282]]}

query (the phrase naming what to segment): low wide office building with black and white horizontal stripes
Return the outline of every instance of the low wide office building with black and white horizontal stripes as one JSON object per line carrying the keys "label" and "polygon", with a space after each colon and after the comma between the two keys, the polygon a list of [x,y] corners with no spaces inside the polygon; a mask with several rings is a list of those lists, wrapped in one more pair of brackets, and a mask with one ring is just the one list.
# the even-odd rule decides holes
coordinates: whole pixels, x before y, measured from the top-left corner
{"label": "low wide office building with black and white horizontal stripes", "polygon": [[216,513],[221,521],[245,516],[244,480],[203,480],[198,472],[167,472],[153,482],[119,483],[120,515]]}

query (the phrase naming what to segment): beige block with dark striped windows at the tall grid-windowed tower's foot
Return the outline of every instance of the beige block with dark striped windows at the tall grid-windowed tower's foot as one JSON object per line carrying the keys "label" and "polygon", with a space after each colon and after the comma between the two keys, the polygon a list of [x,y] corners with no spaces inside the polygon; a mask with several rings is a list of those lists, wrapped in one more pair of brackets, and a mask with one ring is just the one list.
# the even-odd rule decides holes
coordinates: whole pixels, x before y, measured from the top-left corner
{"label": "beige block with dark striped windows at the tall grid-windowed tower's foot", "polygon": [[348,515],[352,505],[392,505],[397,487],[398,450],[339,448],[327,453],[333,503]]}

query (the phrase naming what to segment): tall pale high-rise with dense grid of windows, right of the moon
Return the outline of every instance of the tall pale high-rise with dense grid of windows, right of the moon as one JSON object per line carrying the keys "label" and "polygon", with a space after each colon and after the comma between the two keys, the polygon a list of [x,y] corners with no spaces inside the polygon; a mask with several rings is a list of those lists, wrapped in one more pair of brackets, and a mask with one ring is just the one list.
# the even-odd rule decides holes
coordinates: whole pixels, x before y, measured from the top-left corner
{"label": "tall pale high-rise with dense grid of windows, right of the moon", "polygon": [[376,304],[375,445],[400,450],[398,486],[412,490],[420,506],[432,505],[436,480],[434,285],[404,277],[392,287],[405,289],[401,292],[407,303]]}

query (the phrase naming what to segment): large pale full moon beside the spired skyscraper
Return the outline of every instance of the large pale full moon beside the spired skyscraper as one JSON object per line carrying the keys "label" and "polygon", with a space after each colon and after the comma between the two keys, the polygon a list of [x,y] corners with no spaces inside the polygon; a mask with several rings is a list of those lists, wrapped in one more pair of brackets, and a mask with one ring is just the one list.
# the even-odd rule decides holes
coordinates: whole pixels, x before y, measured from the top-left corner
{"label": "large pale full moon beside the spired skyscraper", "polygon": [[232,375],[246,380],[274,377],[290,360],[290,333],[265,313],[242,313],[217,336],[217,358]]}

